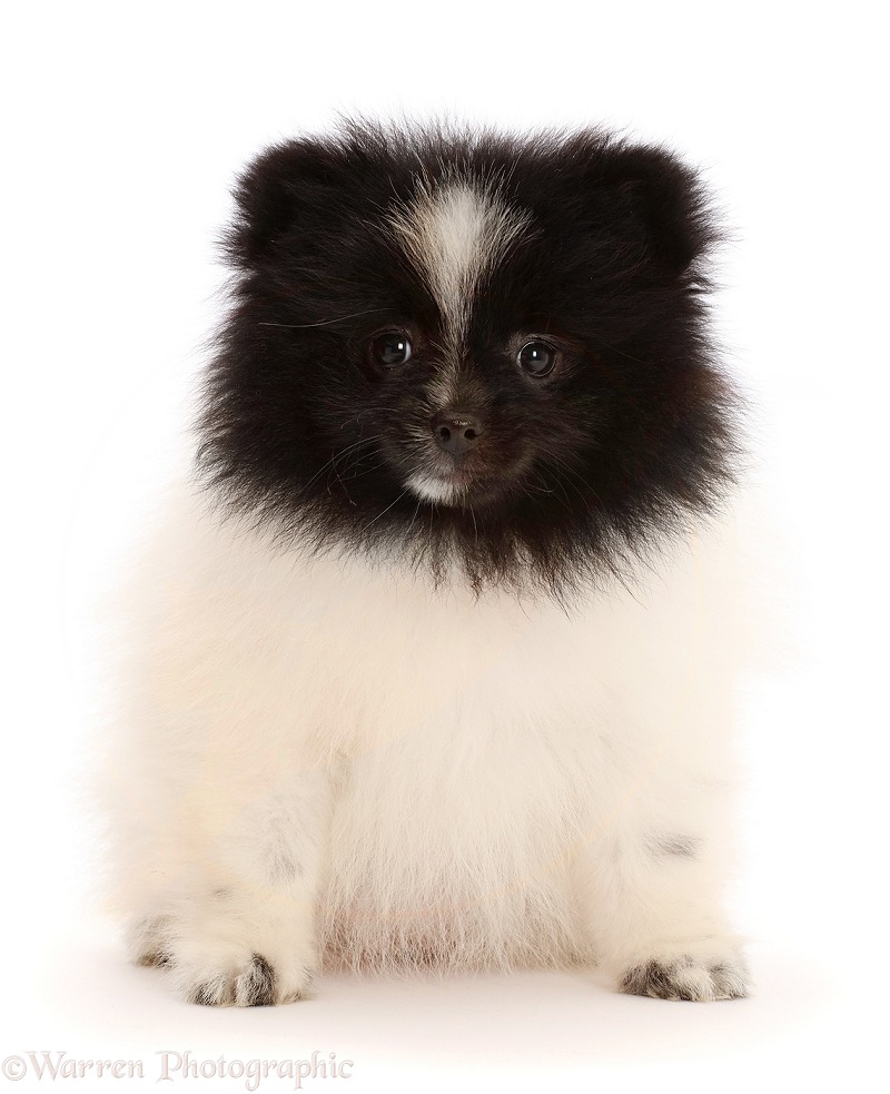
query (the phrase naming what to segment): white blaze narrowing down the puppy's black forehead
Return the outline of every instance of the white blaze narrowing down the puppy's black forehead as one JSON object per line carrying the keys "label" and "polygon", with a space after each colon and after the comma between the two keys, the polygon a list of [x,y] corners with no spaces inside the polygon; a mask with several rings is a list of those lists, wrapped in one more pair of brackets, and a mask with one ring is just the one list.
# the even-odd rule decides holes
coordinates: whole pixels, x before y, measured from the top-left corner
{"label": "white blaze narrowing down the puppy's black forehead", "polygon": [[422,181],[390,224],[438,304],[448,348],[459,352],[483,277],[525,231],[531,217],[507,205],[491,184],[452,177]]}

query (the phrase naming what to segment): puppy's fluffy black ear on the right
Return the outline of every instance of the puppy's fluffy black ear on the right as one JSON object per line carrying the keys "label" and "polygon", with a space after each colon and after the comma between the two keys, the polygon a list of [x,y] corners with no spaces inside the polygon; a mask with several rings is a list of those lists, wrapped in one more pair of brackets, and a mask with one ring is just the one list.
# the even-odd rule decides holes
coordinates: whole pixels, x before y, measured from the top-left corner
{"label": "puppy's fluffy black ear on the right", "polygon": [[606,157],[603,185],[634,250],[659,272],[679,276],[718,239],[694,170],[661,148],[627,147]]}

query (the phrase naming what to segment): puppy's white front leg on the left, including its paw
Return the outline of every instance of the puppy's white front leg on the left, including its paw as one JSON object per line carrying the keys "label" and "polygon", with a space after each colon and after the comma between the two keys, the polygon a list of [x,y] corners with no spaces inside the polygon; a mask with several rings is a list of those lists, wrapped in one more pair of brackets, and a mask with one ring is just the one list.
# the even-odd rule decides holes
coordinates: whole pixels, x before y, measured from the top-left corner
{"label": "puppy's white front leg on the left, including its paw", "polygon": [[329,816],[327,775],[317,768],[235,801],[220,787],[194,792],[178,846],[165,841],[170,898],[144,947],[185,998],[258,1006],[307,993]]}

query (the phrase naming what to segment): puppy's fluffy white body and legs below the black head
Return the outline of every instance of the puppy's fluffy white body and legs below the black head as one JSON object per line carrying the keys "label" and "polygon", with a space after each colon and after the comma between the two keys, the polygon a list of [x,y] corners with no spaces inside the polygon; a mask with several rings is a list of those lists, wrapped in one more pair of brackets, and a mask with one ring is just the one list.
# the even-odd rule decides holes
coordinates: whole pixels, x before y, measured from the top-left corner
{"label": "puppy's fluffy white body and legs below the black head", "polygon": [[564,610],[180,496],[132,583],[110,769],[135,956],[202,1002],[249,1002],[256,955],[277,1002],[344,963],[679,962],[688,997],[739,994],[738,553],[691,532]]}

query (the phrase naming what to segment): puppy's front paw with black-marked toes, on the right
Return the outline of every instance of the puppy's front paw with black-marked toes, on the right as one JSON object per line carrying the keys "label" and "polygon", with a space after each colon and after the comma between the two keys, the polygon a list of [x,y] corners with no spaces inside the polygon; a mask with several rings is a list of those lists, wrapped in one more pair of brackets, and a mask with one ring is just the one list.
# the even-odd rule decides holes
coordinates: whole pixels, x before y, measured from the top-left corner
{"label": "puppy's front paw with black-marked toes, on the right", "polygon": [[619,990],[695,1003],[741,999],[748,995],[748,969],[735,955],[723,959],[653,957],[629,968],[619,982]]}

